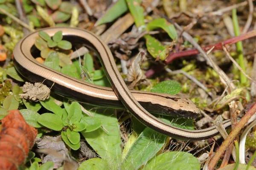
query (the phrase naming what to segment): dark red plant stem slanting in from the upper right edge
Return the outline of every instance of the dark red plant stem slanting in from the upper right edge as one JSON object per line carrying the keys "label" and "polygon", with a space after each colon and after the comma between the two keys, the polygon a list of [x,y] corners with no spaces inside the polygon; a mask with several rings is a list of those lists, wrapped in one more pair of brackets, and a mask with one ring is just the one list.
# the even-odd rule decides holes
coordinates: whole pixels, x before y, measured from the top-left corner
{"label": "dark red plant stem slanting in from the upper right edge", "polygon": [[[247,32],[245,34],[239,35],[237,37],[230,38],[230,39],[225,40],[223,42],[219,42],[219,43],[216,43],[214,45],[208,45],[206,47],[203,47],[203,49],[204,49],[204,51],[208,51],[210,48],[212,48],[214,46],[212,51],[221,50],[222,45],[233,44],[233,43],[236,43],[236,42],[239,42],[239,41],[242,41],[242,40],[246,40],[248,38],[255,37],[255,36],[256,36],[256,30],[253,30],[253,31]],[[190,56],[190,55],[195,55],[195,54],[199,54],[199,51],[197,49],[192,49],[192,50],[187,50],[187,51],[180,51],[180,52],[173,52],[173,53],[169,54],[165,63],[169,64],[170,62],[172,62],[173,60],[175,60],[177,58]],[[151,77],[155,73],[160,72],[163,68],[164,68],[163,65],[154,66],[145,73],[145,76],[147,78]]]}

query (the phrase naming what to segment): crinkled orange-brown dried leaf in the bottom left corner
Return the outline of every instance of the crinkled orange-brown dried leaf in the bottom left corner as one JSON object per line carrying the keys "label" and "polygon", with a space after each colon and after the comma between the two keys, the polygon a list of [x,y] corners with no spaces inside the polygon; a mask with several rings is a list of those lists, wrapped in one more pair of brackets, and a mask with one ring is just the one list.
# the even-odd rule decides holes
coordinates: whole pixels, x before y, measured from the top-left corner
{"label": "crinkled orange-brown dried leaf in the bottom left corner", "polygon": [[16,170],[35,144],[37,130],[25,122],[18,110],[9,111],[1,122],[0,169]]}

